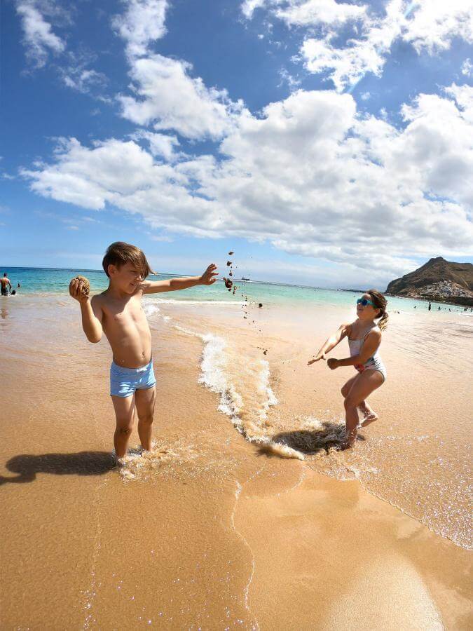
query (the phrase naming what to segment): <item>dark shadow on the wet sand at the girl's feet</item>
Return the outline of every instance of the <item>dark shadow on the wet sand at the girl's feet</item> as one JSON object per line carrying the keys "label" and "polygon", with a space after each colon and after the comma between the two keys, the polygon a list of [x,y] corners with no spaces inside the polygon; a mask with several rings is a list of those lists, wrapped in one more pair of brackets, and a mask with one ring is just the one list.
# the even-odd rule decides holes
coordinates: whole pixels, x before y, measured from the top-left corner
{"label": "dark shadow on the wet sand at the girl's feet", "polygon": [[[322,421],[320,428],[312,430],[294,430],[273,435],[271,441],[285,447],[296,449],[301,454],[315,455],[320,452],[329,453],[329,449],[339,449],[345,440],[345,425]],[[366,440],[364,436],[357,435],[357,440]],[[262,445],[261,452],[273,453],[273,450]]]}

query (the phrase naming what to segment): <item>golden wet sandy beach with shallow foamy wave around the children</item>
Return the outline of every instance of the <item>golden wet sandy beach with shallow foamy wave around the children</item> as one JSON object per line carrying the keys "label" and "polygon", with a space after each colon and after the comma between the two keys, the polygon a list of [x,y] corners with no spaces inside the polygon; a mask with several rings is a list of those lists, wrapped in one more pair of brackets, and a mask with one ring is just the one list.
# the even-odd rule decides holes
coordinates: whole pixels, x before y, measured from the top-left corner
{"label": "golden wet sandy beach with shallow foamy wave around the children", "polygon": [[350,311],[146,301],[156,449],[118,470],[71,303],[1,304],[2,629],[472,627],[472,318],[392,314],[341,453],[352,372],[306,363]]}

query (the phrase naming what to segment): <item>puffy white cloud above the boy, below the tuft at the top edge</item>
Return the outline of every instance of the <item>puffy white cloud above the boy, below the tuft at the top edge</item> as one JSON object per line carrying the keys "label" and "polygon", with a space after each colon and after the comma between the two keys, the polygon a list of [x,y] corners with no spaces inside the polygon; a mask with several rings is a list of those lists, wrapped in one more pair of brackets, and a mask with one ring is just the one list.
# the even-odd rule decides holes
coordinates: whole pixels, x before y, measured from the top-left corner
{"label": "puffy white cloud above the boy, below the tuft at the top edge", "polygon": [[156,130],[176,130],[187,138],[221,138],[242,103],[231,102],[226,90],[207,88],[200,77],[193,79],[191,68],[163,55],[133,60],[135,97],[118,97],[122,116],[138,125],[152,123]]}

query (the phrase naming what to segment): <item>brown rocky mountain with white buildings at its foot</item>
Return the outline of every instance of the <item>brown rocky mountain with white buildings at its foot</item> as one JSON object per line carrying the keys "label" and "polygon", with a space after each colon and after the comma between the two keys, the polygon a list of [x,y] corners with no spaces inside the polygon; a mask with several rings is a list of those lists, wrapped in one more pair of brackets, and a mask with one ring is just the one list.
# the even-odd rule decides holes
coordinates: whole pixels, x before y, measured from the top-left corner
{"label": "brown rocky mountain with white buildings at its foot", "polygon": [[473,306],[473,264],[436,257],[416,271],[392,280],[386,293]]}

